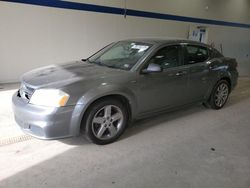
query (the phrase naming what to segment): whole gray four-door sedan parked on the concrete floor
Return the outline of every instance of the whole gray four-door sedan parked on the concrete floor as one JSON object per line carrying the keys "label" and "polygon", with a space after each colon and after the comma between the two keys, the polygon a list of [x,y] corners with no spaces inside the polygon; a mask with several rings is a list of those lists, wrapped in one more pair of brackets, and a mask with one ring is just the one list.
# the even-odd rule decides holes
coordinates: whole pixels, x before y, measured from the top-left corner
{"label": "whole gray four-door sedan parked on the concrete floor", "polygon": [[193,103],[221,109],[237,84],[235,59],[188,40],[112,43],[88,59],[23,75],[15,120],[41,139],[84,132],[96,144],[118,139],[135,119]]}

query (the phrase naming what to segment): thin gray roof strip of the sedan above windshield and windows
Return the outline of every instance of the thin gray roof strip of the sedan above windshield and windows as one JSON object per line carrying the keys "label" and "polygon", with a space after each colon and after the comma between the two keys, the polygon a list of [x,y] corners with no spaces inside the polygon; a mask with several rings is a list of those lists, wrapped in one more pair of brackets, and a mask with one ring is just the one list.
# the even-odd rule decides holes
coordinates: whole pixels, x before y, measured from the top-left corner
{"label": "thin gray roof strip of the sedan above windshield and windows", "polygon": [[163,44],[173,44],[173,43],[189,43],[189,44],[195,44],[195,45],[201,45],[210,47],[207,44],[187,40],[187,39],[178,39],[178,38],[135,38],[135,39],[127,39],[122,41],[134,41],[134,42],[143,42],[143,43],[149,43],[153,45],[163,45]]}

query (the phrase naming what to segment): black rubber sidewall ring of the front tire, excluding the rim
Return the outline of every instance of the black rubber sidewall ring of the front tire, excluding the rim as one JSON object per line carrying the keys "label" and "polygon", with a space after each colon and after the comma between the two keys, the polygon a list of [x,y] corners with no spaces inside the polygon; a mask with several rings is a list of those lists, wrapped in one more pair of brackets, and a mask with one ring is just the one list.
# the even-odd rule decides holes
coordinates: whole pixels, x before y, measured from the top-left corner
{"label": "black rubber sidewall ring of the front tire, excluding the rim", "polygon": [[[114,105],[114,106],[119,107],[120,110],[122,111],[124,120],[123,120],[123,124],[122,124],[121,129],[119,130],[118,134],[115,137],[108,139],[108,140],[101,140],[101,139],[98,139],[92,131],[92,120],[93,120],[95,114],[106,105]],[[86,117],[85,121],[84,121],[84,123],[85,123],[85,135],[89,141],[91,141],[95,144],[98,144],[98,145],[109,144],[109,143],[112,143],[115,140],[117,140],[122,135],[122,133],[125,131],[127,123],[128,123],[128,113],[127,113],[126,108],[124,107],[124,105],[120,101],[115,100],[115,99],[105,99],[105,100],[101,100],[101,101],[94,103],[88,109],[85,117]]]}

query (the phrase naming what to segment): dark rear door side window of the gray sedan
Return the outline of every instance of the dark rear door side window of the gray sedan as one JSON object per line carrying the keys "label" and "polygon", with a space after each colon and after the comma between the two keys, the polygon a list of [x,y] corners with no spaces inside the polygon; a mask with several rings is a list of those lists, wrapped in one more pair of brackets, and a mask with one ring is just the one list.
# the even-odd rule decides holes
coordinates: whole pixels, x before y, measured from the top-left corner
{"label": "dark rear door side window of the gray sedan", "polygon": [[200,63],[208,59],[208,49],[203,46],[187,45],[186,64]]}

